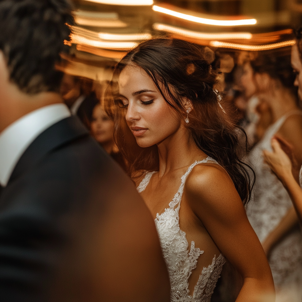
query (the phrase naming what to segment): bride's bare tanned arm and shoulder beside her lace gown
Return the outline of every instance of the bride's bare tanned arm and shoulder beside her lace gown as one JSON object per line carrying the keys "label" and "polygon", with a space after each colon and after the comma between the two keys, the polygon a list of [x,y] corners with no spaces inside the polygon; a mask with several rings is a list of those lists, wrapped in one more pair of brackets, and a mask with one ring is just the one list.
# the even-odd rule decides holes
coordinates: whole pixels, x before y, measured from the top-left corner
{"label": "bride's bare tanned arm and shoulder beside her lace gown", "polygon": [[218,165],[196,168],[187,179],[186,195],[217,247],[243,277],[236,302],[275,301],[268,261],[229,175]]}

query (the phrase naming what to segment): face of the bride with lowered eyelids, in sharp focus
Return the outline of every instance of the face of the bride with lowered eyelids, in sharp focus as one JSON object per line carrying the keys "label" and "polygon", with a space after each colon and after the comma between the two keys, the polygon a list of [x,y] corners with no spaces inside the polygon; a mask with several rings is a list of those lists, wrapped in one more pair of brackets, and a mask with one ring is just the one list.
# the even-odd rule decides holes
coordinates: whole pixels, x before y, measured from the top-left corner
{"label": "face of the bride with lowered eyelids, in sharp focus", "polygon": [[139,66],[120,73],[119,93],[127,124],[141,147],[158,144],[178,131],[182,121]]}

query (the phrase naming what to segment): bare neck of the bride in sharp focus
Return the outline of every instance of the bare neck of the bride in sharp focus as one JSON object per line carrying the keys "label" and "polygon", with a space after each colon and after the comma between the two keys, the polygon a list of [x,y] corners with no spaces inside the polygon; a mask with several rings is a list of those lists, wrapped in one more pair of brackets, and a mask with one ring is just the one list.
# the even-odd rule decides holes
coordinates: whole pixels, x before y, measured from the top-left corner
{"label": "bare neck of the bride in sharp focus", "polygon": [[159,143],[157,147],[159,153],[159,177],[206,157],[190,138],[189,131],[185,127],[181,127],[176,133]]}

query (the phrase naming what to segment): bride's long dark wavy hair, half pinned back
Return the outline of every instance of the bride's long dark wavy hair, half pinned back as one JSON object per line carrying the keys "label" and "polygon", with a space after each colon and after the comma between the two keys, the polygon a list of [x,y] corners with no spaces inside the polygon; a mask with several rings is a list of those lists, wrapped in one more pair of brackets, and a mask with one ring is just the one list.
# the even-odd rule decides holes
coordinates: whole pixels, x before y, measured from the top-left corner
{"label": "bride's long dark wavy hair, half pinned back", "polygon": [[182,99],[191,100],[193,110],[186,125],[191,138],[199,149],[226,169],[246,204],[254,184],[254,171],[239,156],[242,154],[237,138],[240,130],[230,121],[219,102],[220,96],[214,91],[217,74],[208,56],[206,49],[183,40],[155,38],[142,42],[115,67],[105,94],[106,111],[114,119],[114,137],[127,160],[129,175],[141,170],[158,171],[157,146],[138,146],[120,110],[117,78],[127,65],[140,66],[165,101],[184,119],[187,113]]}

